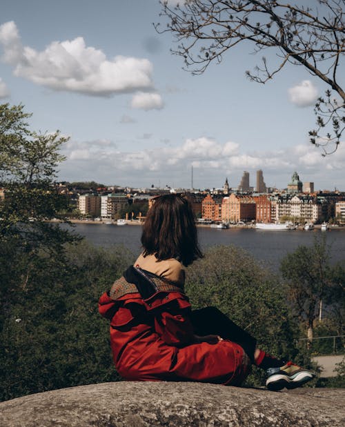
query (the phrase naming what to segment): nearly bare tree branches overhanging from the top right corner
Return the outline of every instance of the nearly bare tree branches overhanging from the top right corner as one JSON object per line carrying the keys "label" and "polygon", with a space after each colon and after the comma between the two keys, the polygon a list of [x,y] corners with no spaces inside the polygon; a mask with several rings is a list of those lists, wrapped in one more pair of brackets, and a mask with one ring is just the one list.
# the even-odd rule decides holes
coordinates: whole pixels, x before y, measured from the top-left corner
{"label": "nearly bare tree branches overhanging from the top right corner", "polygon": [[[166,28],[178,41],[172,50],[184,58],[185,66],[195,74],[220,63],[239,45],[250,44],[254,53],[270,49],[277,61],[270,68],[266,57],[249,79],[259,83],[273,79],[288,63],[303,66],[326,83],[326,96],[315,104],[317,128],[311,130],[311,142],[324,148],[324,154],[336,150],[345,126],[345,92],[339,83],[340,59],[345,52],[344,0],[181,0],[175,6],[161,0],[161,16]],[[321,135],[326,133],[326,137]]]}

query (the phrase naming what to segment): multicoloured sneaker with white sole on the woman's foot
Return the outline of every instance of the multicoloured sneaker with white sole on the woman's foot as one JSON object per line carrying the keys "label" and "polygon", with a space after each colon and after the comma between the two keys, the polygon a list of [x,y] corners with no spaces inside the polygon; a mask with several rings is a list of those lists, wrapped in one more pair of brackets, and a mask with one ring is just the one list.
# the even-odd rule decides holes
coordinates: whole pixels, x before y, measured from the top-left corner
{"label": "multicoloured sneaker with white sole on the woman's foot", "polygon": [[301,368],[291,361],[280,368],[268,368],[266,373],[268,375],[266,387],[273,391],[282,390],[284,387],[289,389],[300,387],[315,377],[310,370]]}

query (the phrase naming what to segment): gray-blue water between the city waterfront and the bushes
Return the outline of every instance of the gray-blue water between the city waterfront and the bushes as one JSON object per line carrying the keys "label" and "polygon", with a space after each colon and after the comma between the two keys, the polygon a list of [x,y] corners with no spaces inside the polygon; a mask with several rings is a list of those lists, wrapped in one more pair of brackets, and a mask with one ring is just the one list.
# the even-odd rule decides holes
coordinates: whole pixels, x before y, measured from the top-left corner
{"label": "gray-blue water between the city waterfront and the bushes", "polygon": [[[104,248],[123,245],[134,256],[140,252],[141,226],[114,226],[106,224],[76,224],[75,231],[88,241]],[[326,235],[331,245],[332,261],[345,261],[345,230],[328,232],[314,231],[265,231],[245,228],[198,228],[199,241],[204,250],[215,245],[235,245],[248,250],[253,257],[273,268],[279,269],[281,259],[297,246],[313,245],[317,236]]]}

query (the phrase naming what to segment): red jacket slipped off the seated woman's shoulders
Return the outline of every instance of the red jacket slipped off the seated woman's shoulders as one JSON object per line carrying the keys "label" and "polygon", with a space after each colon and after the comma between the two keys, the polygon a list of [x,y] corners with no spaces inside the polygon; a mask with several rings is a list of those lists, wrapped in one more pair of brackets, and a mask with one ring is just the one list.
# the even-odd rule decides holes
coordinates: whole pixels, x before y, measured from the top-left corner
{"label": "red jacket slipped off the seated woman's shoulders", "polygon": [[159,290],[145,300],[139,292],[109,295],[99,299],[99,312],[110,320],[112,355],[124,379],[239,385],[248,374],[238,344],[195,344],[184,293]]}

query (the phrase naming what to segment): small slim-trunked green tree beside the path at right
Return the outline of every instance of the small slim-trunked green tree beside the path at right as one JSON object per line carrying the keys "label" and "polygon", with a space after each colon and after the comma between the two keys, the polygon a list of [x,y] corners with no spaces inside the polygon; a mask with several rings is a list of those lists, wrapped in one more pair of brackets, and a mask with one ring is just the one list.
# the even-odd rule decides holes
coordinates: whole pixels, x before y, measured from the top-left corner
{"label": "small slim-trunked green tree beside the path at right", "polygon": [[[326,239],[315,239],[313,246],[299,246],[282,259],[281,270],[293,308],[306,323],[308,339],[313,339],[315,320],[335,304],[335,289],[344,288],[337,284]],[[341,270],[338,274],[340,277]]]}

